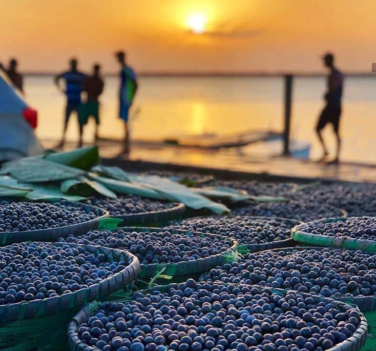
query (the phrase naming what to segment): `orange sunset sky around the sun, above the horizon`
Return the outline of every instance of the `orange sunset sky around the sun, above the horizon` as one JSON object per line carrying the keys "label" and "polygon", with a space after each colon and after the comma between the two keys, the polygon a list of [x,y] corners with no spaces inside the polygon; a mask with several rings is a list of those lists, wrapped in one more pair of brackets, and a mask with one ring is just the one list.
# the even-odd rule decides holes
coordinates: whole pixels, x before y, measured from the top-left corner
{"label": "orange sunset sky around the sun, above the horizon", "polygon": [[[117,69],[128,52],[139,71],[320,71],[332,50],[340,68],[376,62],[374,0],[0,0],[0,60],[24,71],[59,71],[72,55]],[[192,13],[210,33],[187,31]]]}

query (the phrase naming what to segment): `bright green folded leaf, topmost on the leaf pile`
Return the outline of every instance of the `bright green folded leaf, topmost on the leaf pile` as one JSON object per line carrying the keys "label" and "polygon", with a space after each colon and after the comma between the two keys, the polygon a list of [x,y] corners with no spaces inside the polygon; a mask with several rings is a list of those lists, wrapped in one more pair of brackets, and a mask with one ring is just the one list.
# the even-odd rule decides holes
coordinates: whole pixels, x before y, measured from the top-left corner
{"label": "bright green folded leaf, topmost on the leaf pile", "polygon": [[88,171],[99,162],[98,146],[89,146],[67,152],[50,153],[44,156],[44,159]]}

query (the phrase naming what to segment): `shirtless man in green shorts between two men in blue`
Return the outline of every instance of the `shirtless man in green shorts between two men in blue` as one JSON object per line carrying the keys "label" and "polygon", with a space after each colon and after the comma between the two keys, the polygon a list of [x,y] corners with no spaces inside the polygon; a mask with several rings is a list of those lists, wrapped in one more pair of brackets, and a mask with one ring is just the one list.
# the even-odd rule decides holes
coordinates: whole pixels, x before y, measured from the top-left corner
{"label": "shirtless man in green shorts between two men in blue", "polygon": [[100,77],[100,66],[93,66],[93,75],[86,77],[83,81],[82,91],[86,93],[86,102],[79,108],[79,147],[82,147],[83,126],[89,117],[95,118],[95,140],[98,139],[99,126],[99,96],[103,92],[104,82]]}

